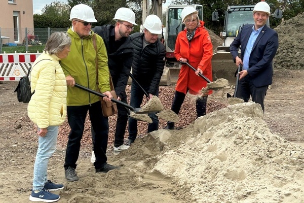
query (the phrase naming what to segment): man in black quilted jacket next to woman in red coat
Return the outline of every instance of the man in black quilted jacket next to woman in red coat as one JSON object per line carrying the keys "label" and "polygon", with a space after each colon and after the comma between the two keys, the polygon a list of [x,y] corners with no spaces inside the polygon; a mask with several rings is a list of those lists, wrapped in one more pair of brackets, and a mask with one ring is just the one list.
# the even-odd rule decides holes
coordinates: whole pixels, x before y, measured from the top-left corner
{"label": "man in black quilted jacket next to woman in red coat", "polygon": [[[134,47],[132,73],[136,81],[149,94],[158,96],[159,84],[164,71],[166,49],[158,36],[162,33],[162,21],[156,15],[149,15],[144,21],[144,32],[132,34]],[[139,108],[144,92],[132,81],[130,105]],[[148,124],[148,132],[158,129],[159,120],[156,113],[148,114],[153,123]],[[137,137],[137,120],[129,118],[129,141],[131,145]]]}

